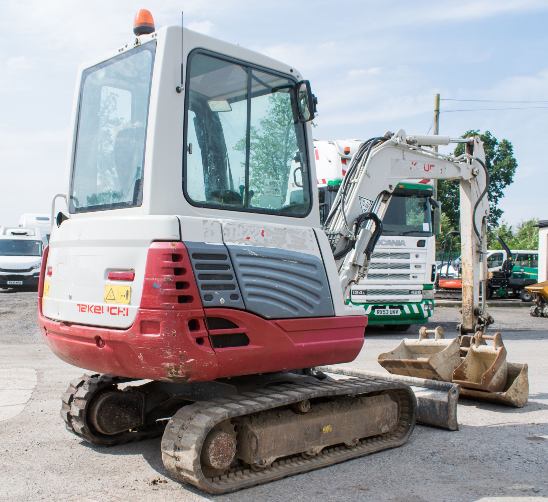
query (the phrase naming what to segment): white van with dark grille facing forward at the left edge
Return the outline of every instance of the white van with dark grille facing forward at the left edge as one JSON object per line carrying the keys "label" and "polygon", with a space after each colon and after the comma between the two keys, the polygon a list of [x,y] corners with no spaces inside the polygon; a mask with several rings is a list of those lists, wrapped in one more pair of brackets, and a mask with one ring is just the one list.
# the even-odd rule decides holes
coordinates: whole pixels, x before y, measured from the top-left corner
{"label": "white van with dark grille facing forward at the left edge", "polygon": [[48,241],[39,228],[2,228],[0,288],[38,286],[42,253]]}

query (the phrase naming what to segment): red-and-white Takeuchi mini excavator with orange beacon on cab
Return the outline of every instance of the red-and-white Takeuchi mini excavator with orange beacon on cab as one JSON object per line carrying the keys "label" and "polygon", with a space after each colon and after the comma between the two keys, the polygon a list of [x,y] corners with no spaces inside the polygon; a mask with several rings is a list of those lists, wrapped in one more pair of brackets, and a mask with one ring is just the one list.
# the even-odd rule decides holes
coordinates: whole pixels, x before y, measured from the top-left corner
{"label": "red-and-white Takeuchi mini excavator with orange beacon on cab", "polygon": [[408,385],[313,367],[361,350],[367,316],[345,300],[397,182],[426,172],[461,180],[463,332],[474,331],[481,142],[458,140],[459,158],[420,147],[448,137],[364,142],[324,231],[316,100],[299,71],[179,26],[156,31],[148,11],[134,32],[79,68],[67,190],[52,203],[39,325],[60,359],[92,372],[62,396],[66,428],[104,446],[163,434],[172,476],[214,494],[402,445],[416,417]]}

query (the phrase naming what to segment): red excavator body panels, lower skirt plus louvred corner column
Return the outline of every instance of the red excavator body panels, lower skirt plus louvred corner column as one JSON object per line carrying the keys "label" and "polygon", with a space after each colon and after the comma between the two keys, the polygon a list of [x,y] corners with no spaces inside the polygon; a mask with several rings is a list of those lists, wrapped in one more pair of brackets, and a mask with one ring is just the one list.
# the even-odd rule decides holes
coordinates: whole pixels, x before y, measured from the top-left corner
{"label": "red excavator body panels, lower skirt plus louvred corner column", "polygon": [[207,382],[349,362],[363,345],[363,315],[266,320],[242,310],[202,308],[182,243],[151,245],[141,306],[130,328],[54,321],[42,313],[47,255],[46,249],[38,291],[42,336],[60,359],[93,372]]}

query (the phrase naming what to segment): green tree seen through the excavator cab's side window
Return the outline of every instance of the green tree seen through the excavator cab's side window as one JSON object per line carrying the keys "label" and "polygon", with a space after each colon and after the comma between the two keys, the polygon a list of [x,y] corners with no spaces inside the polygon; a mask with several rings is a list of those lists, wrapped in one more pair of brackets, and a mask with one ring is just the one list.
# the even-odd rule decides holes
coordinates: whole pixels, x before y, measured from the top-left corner
{"label": "green tree seen through the excavator cab's side window", "polygon": [[[291,162],[297,149],[295,119],[289,95],[276,93],[269,96],[269,111],[252,126],[249,143],[249,187],[255,193],[264,193],[265,180],[280,184],[281,193],[287,192]],[[246,138],[240,139],[235,150],[246,152]]]}

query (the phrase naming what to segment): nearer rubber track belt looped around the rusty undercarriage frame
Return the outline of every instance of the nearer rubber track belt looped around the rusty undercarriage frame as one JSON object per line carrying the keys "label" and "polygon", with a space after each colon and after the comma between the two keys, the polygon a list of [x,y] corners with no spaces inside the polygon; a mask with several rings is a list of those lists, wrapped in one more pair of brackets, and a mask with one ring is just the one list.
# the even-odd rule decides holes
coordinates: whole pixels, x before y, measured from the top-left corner
{"label": "nearer rubber track belt looped around the rusty undercarriage frame", "polygon": [[[220,477],[206,478],[203,475],[200,462],[203,442],[208,432],[222,420],[314,397],[355,395],[385,390],[395,391],[400,401],[398,422],[389,434],[366,438],[353,448],[346,448],[344,445],[326,447],[321,453],[309,459],[304,459],[301,455],[279,459],[261,471],[241,467],[231,469]],[[413,391],[407,385],[396,382],[360,378],[304,385],[284,384],[230,398],[201,401],[179,409],[165,428],[162,438],[162,460],[177,480],[218,495],[401,446],[413,431],[415,419],[416,400]]]}

